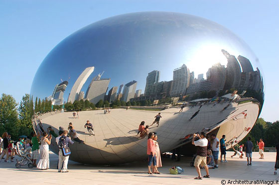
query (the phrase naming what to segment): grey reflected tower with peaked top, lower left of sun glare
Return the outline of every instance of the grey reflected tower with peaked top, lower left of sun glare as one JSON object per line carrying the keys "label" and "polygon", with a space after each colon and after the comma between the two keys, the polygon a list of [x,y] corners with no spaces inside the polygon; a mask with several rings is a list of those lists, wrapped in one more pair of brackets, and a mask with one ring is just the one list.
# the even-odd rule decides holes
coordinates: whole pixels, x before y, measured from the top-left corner
{"label": "grey reflected tower with peaked top, lower left of sun glare", "polygon": [[170,91],[170,96],[181,96],[185,93],[186,88],[190,84],[190,71],[183,64],[180,68],[173,70],[173,80]]}

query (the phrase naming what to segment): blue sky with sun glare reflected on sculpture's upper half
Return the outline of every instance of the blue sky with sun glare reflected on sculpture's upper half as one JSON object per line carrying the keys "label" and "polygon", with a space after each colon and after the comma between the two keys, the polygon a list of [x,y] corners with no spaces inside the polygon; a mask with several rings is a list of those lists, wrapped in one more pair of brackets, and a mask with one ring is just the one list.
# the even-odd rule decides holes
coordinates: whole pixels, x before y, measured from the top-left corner
{"label": "blue sky with sun glare reflected on sculpture's upper half", "polygon": [[[137,89],[143,91],[146,74],[158,70],[160,81],[170,81],[173,69],[182,64],[194,71],[195,77],[201,73],[206,77],[212,64],[227,64],[222,49],[236,57],[242,55],[258,67],[257,58],[242,40],[209,20],[169,12],[119,15],[86,26],[60,42],[40,65],[31,92],[48,97],[60,79],[70,77],[64,92],[68,95],[78,76],[90,66],[95,69],[83,92],[102,72],[102,78],[111,78],[109,90],[135,80]],[[41,83],[45,88],[34,90]]]}

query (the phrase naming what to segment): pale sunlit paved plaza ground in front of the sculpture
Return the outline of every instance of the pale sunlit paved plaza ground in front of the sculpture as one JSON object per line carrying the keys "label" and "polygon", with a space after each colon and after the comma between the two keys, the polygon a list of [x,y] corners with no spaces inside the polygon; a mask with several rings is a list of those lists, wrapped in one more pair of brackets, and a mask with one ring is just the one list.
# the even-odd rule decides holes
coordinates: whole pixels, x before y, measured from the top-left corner
{"label": "pale sunlit paved plaza ground in front of the sculpture", "polygon": [[[233,152],[227,152],[228,163],[219,163],[218,169],[209,170],[210,179],[194,180],[197,173],[190,167],[191,158],[182,157],[180,162],[162,159],[160,175],[147,175],[147,162],[139,161],[117,166],[89,166],[69,161],[69,173],[58,173],[56,170],[58,156],[50,152],[50,169],[47,171],[23,166],[15,168],[13,163],[0,163],[0,183],[9,185],[221,185],[221,181],[235,180],[279,180],[274,175],[276,153],[265,153],[265,159],[259,159],[258,152],[253,153],[252,165],[247,166],[245,159],[230,157]],[[19,159],[16,157],[16,159]],[[168,169],[180,166],[184,174],[170,175]],[[205,171],[202,170],[202,175]],[[261,183],[260,181],[258,181]],[[264,183],[264,182],[262,182]]]}

